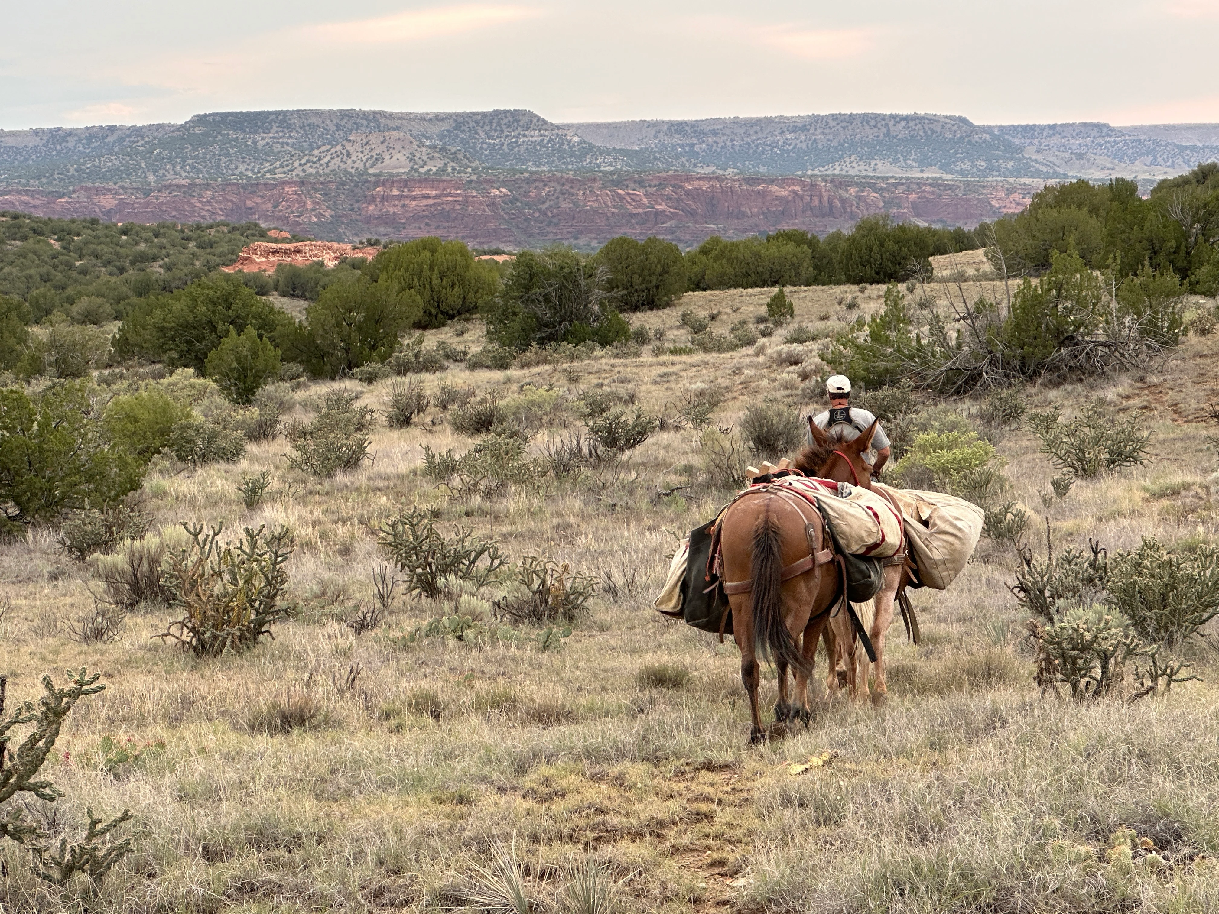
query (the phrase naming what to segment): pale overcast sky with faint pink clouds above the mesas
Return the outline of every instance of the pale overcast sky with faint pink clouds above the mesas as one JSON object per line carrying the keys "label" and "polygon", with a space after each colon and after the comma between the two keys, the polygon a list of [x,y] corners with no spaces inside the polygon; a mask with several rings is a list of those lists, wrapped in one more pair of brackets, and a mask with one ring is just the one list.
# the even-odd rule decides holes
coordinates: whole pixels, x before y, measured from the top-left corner
{"label": "pale overcast sky with faint pink clouds above the mesas", "polygon": [[0,0],[0,128],[206,111],[1219,122],[1219,0]]}

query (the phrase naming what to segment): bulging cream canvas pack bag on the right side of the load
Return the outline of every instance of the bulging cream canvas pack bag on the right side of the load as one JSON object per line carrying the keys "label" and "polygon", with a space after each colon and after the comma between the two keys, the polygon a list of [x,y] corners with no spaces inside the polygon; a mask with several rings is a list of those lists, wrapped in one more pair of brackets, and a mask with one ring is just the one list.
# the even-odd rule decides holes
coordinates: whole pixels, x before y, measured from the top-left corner
{"label": "bulging cream canvas pack bag on the right side of the load", "polygon": [[880,483],[873,486],[892,495],[901,507],[919,580],[928,587],[945,590],[978,546],[986,518],[983,509],[944,492],[894,489]]}

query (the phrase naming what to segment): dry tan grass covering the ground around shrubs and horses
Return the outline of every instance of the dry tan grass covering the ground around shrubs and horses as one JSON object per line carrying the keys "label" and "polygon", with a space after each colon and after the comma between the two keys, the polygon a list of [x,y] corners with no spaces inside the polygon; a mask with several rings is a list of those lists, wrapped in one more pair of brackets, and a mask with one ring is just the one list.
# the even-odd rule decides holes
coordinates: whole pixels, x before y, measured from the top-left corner
{"label": "dry tan grass covering the ground around shrubs and horses", "polygon": [[[883,289],[797,289],[796,321],[851,319]],[[684,340],[681,308],[719,310],[714,327],[764,311],[768,290],[707,292],[642,316]],[[840,296],[856,295],[846,312]],[[731,308],[737,307],[736,312]],[[841,311],[841,313],[840,313]],[[781,333],[781,331],[780,331]],[[432,334],[455,339],[453,329]],[[461,340],[478,345],[474,325]],[[1103,392],[1134,408],[1164,388],[1214,384],[1215,340],[1190,340],[1163,375]],[[553,385],[568,403],[549,435],[579,428],[583,391],[630,392],[652,412],[694,383],[719,383],[716,412],[735,422],[748,402],[795,407],[800,380],[764,353],[644,355],[511,372],[456,368],[441,383],[507,395]],[[388,383],[361,386],[377,405]],[[1098,391],[1032,391],[1068,407]],[[1072,541],[1119,548],[1143,533],[1165,541],[1215,537],[1219,505],[1206,485],[1214,453],[1206,428],[1168,391],[1150,418],[1156,459],[1082,480],[1043,508],[1050,463],[1013,433],[1000,446],[1013,495],[1048,514]],[[374,429],[374,459],[329,480],[294,473],[285,441],[250,447],[235,464],[161,467],[146,483],[154,529],[177,520],[286,524],[299,550],[288,569],[301,617],[251,653],[197,661],[151,635],[168,615],[132,615],[110,643],[80,645],[68,624],[91,607],[88,570],[56,553],[46,531],[0,552],[0,669],[11,698],[68,665],[104,671],[107,691],[82,702],[49,775],[66,792],[56,821],[84,807],[130,807],[138,852],[91,903],[100,912],[425,910],[479,888],[479,873],[513,866],[541,910],[570,909],[575,876],[600,874],[617,910],[1032,912],[1219,907],[1219,664],[1195,662],[1203,682],[1135,706],[1075,706],[1043,697],[1022,647],[1023,619],[1006,590],[1012,556],[984,544],[945,593],[918,592],[925,642],[891,650],[891,700],[881,712],[823,709],[786,741],[746,747],[747,704],[729,640],[688,629],[647,602],[675,536],[724,495],[691,481],[690,429],[662,431],[611,466],[567,483],[517,486],[492,501],[446,496],[419,472],[422,445],[458,452],[469,441],[430,409],[408,429]],[[243,474],[271,470],[254,511]],[[691,485],[668,497],[657,490]],[[396,639],[450,613],[452,600],[403,603],[377,632],[356,636],[343,609],[374,600],[380,557],[373,528],[412,503],[442,525],[494,535],[512,559],[540,554],[635,584],[595,601],[556,650],[534,630],[518,639]],[[636,572],[638,569],[638,572]],[[489,593],[484,593],[490,596]],[[471,606],[469,597],[462,606]],[[464,612],[464,609],[463,609]],[[355,665],[361,674],[345,687]],[[678,671],[680,670],[680,671]],[[688,678],[684,673],[688,671]],[[680,680],[680,681],[678,681]],[[818,686],[819,692],[819,686]],[[773,701],[773,686],[766,687]],[[96,759],[102,736],[163,740],[121,776]],[[787,762],[825,765],[792,775]],[[836,753],[833,754],[833,753]],[[1154,853],[1121,849],[1134,829]],[[0,847],[6,910],[66,910],[29,876],[23,852]],[[579,868],[585,868],[580,870]],[[485,890],[486,886],[483,886]]]}

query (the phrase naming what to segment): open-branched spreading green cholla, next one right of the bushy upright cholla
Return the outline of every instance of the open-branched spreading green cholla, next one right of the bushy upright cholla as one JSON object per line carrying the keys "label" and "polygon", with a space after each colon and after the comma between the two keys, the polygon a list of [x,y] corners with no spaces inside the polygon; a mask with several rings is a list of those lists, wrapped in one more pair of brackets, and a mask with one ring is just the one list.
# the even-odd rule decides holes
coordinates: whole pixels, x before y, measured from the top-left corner
{"label": "open-branched spreading green cholla, next one right of the bushy upright cholla", "polygon": [[407,593],[433,600],[450,579],[483,587],[506,563],[494,541],[480,540],[461,526],[446,537],[436,529],[435,515],[414,507],[383,524],[377,545],[402,573]]}

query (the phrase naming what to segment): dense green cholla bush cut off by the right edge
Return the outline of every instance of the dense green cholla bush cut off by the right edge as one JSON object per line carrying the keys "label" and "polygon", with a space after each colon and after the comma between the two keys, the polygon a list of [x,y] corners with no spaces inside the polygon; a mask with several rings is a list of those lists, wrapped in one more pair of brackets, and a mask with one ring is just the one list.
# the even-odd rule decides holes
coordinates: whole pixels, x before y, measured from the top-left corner
{"label": "dense green cholla bush cut off by the right edge", "polygon": [[1150,643],[1178,648],[1219,615],[1219,550],[1174,551],[1145,536],[1113,556],[1108,603]]}

